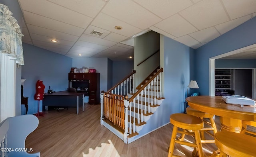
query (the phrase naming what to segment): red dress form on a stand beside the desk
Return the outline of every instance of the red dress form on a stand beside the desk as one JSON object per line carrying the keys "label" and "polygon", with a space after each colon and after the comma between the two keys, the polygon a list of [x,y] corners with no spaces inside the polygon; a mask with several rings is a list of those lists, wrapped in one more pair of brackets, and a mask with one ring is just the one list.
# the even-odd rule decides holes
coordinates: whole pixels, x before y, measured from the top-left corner
{"label": "red dress form on a stand beside the desk", "polygon": [[44,84],[42,80],[38,80],[36,82],[36,94],[34,96],[35,100],[38,100],[38,113],[36,114],[36,116],[44,116],[44,114],[41,112],[39,112],[40,110],[40,100],[43,100],[44,98]]}

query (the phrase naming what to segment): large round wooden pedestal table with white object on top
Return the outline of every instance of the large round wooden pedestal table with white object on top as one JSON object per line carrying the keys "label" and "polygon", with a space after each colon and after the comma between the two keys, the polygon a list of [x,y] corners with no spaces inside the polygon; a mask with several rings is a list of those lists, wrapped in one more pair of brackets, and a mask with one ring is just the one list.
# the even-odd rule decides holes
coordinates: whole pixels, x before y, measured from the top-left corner
{"label": "large round wooden pedestal table with white object on top", "polygon": [[222,131],[240,133],[242,120],[256,121],[256,106],[226,104],[221,98],[222,96],[190,96],[186,101],[191,108],[220,116]]}

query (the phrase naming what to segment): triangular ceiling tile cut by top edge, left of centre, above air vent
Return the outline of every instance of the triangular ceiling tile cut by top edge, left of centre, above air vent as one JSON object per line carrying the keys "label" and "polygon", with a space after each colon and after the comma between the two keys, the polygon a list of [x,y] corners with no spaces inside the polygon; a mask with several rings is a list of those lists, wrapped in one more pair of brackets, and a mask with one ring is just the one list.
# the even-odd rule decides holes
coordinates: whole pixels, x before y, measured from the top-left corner
{"label": "triangular ceiling tile cut by top edge, left of centre, above air vent", "polygon": [[48,0],[81,14],[94,18],[106,4],[102,0]]}

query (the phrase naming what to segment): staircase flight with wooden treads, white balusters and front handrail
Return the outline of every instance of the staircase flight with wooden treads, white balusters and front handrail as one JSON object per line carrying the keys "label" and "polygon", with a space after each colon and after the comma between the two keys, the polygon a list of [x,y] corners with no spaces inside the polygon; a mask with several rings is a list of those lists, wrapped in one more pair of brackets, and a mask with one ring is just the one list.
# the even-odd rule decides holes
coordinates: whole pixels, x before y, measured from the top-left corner
{"label": "staircase flight with wooden treads, white balusters and front handrail", "polygon": [[[124,140],[126,143],[130,143],[144,136],[140,134],[140,131],[147,126],[148,120],[152,117],[154,112],[157,111],[157,108],[164,100],[163,97],[160,97],[162,93],[160,93],[161,82],[159,79],[159,73],[161,73],[162,71],[163,69],[156,69],[155,71],[153,71],[145,80],[143,80],[136,87],[136,92],[128,94],[128,126],[126,126],[128,127],[128,133],[122,132],[123,130],[120,130],[120,127],[118,127],[117,125],[109,124],[111,123],[110,121],[102,120],[103,122],[108,123],[109,126],[112,126],[113,129],[119,130],[120,134],[118,135],[118,137],[122,139],[126,136],[128,138],[127,141]],[[158,77],[157,79],[156,74]],[[139,94],[138,91],[140,92]],[[131,100],[131,98],[133,98],[133,100]],[[149,130],[148,133],[150,133],[151,131],[152,130]]]}

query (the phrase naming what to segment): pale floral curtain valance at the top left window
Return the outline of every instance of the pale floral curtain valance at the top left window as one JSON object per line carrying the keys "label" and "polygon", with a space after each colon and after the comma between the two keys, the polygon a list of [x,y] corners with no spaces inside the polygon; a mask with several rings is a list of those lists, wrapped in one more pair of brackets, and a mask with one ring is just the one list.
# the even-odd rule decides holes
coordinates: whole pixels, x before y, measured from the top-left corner
{"label": "pale floral curtain valance at the top left window", "polygon": [[18,65],[24,65],[21,39],[23,36],[8,6],[0,4],[0,53],[10,55]]}

